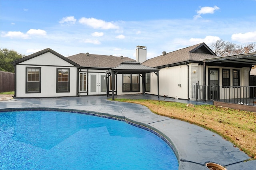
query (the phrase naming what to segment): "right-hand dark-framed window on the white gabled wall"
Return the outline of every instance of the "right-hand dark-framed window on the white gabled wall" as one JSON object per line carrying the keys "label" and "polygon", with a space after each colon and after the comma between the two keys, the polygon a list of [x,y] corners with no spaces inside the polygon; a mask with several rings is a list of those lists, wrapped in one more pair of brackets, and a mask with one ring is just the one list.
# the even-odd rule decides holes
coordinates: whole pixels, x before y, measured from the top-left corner
{"label": "right-hand dark-framed window on the white gabled wall", "polygon": [[57,92],[69,92],[69,68],[57,68]]}

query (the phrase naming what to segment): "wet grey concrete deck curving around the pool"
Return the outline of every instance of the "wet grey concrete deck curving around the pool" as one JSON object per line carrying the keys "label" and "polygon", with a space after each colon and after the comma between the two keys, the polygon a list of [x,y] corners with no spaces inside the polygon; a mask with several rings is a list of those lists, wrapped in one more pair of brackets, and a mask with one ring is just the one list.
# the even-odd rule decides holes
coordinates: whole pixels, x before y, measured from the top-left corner
{"label": "wet grey concrete deck curving around the pool", "polygon": [[[125,95],[115,98],[158,100],[157,96],[152,95]],[[205,104],[164,97],[159,100]],[[156,115],[145,106],[108,100],[106,96],[18,98],[0,102],[1,110],[12,108],[74,109],[125,117],[166,137],[174,147],[180,170],[208,170],[205,166],[207,162],[220,164],[227,170],[254,170],[256,167],[256,160],[249,160],[249,156],[216,133],[184,121]]]}

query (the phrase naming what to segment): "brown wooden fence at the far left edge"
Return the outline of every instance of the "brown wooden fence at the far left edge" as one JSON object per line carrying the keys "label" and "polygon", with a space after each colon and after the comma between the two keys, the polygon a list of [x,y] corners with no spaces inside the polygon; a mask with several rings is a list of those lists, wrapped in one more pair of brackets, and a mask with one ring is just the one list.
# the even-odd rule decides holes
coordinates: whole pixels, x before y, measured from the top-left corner
{"label": "brown wooden fence at the far left edge", "polygon": [[14,91],[14,73],[0,71],[0,93]]}

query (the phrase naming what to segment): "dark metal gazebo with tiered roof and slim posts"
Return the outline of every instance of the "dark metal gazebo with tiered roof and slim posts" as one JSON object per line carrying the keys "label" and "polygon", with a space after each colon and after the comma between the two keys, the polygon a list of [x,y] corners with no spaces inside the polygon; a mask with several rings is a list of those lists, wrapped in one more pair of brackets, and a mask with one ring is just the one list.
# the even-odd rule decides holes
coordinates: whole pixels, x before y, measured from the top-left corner
{"label": "dark metal gazebo with tiered roof and slim posts", "polygon": [[158,98],[159,98],[159,70],[157,68],[144,66],[136,61],[124,61],[119,66],[111,68],[110,70],[106,71],[106,81],[107,81],[107,96],[110,94],[110,88],[108,86],[109,78],[112,77],[112,100],[114,100],[114,87],[115,87],[115,77],[116,74],[140,74],[142,77],[142,95],[145,93],[145,74],[154,72],[157,76],[157,91],[158,91]]}

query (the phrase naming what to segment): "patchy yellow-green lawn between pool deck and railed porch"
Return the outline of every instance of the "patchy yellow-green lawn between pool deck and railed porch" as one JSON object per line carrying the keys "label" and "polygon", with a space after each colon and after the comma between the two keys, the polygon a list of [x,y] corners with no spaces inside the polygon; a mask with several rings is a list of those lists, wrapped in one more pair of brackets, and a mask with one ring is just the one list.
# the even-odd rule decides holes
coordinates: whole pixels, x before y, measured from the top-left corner
{"label": "patchy yellow-green lawn between pool deck and railed porch", "polygon": [[147,106],[153,113],[180,119],[213,131],[232,142],[234,147],[256,158],[256,112],[213,105],[196,105],[158,100],[115,99]]}

